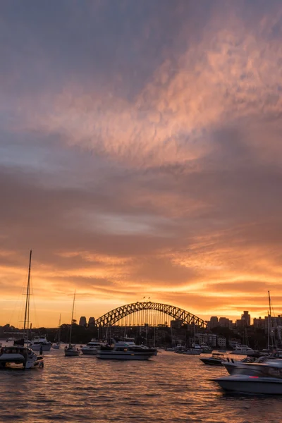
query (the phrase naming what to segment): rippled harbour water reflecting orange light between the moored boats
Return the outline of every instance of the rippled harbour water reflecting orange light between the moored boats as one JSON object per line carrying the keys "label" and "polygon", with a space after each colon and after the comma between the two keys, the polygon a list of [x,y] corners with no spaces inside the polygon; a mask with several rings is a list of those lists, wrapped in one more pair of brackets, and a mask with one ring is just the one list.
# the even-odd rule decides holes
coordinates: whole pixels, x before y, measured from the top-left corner
{"label": "rippled harbour water reflecting orange light between the moored boats", "polygon": [[223,367],[161,351],[145,362],[45,353],[43,369],[0,372],[0,422],[279,423],[282,398],[228,396]]}

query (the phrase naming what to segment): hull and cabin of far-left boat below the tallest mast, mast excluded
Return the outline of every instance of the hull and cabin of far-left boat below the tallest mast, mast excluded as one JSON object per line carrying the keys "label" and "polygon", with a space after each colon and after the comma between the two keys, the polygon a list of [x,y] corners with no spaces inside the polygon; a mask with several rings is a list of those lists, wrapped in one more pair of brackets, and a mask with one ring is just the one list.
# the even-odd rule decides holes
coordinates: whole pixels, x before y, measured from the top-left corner
{"label": "hull and cabin of far-left boat below the tallest mast, mast excluded", "polygon": [[20,365],[24,369],[44,366],[44,357],[23,345],[11,345],[0,350],[0,368]]}

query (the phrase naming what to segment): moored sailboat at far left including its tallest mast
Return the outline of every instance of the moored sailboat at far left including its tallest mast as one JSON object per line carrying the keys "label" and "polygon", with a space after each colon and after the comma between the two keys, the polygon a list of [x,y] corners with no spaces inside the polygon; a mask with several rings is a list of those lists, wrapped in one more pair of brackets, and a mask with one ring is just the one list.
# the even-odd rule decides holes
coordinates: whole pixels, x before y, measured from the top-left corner
{"label": "moored sailboat at far left including its tallest mast", "polygon": [[27,292],[25,297],[25,320],[23,324],[23,339],[14,341],[13,346],[5,346],[0,350],[0,368],[19,365],[24,369],[33,367],[43,367],[44,357],[37,355],[31,348],[25,346],[25,329],[28,342],[30,328],[30,268],[31,268],[32,250],[30,250],[30,264],[28,267]]}

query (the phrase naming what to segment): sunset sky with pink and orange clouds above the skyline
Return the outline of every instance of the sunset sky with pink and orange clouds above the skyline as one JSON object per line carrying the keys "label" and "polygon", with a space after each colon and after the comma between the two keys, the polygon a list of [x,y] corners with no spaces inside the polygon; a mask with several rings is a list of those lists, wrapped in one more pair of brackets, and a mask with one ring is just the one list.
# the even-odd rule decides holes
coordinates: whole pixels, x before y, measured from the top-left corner
{"label": "sunset sky with pink and orange clouds above the skyline", "polygon": [[282,311],[281,0],[0,4],[0,324]]}

